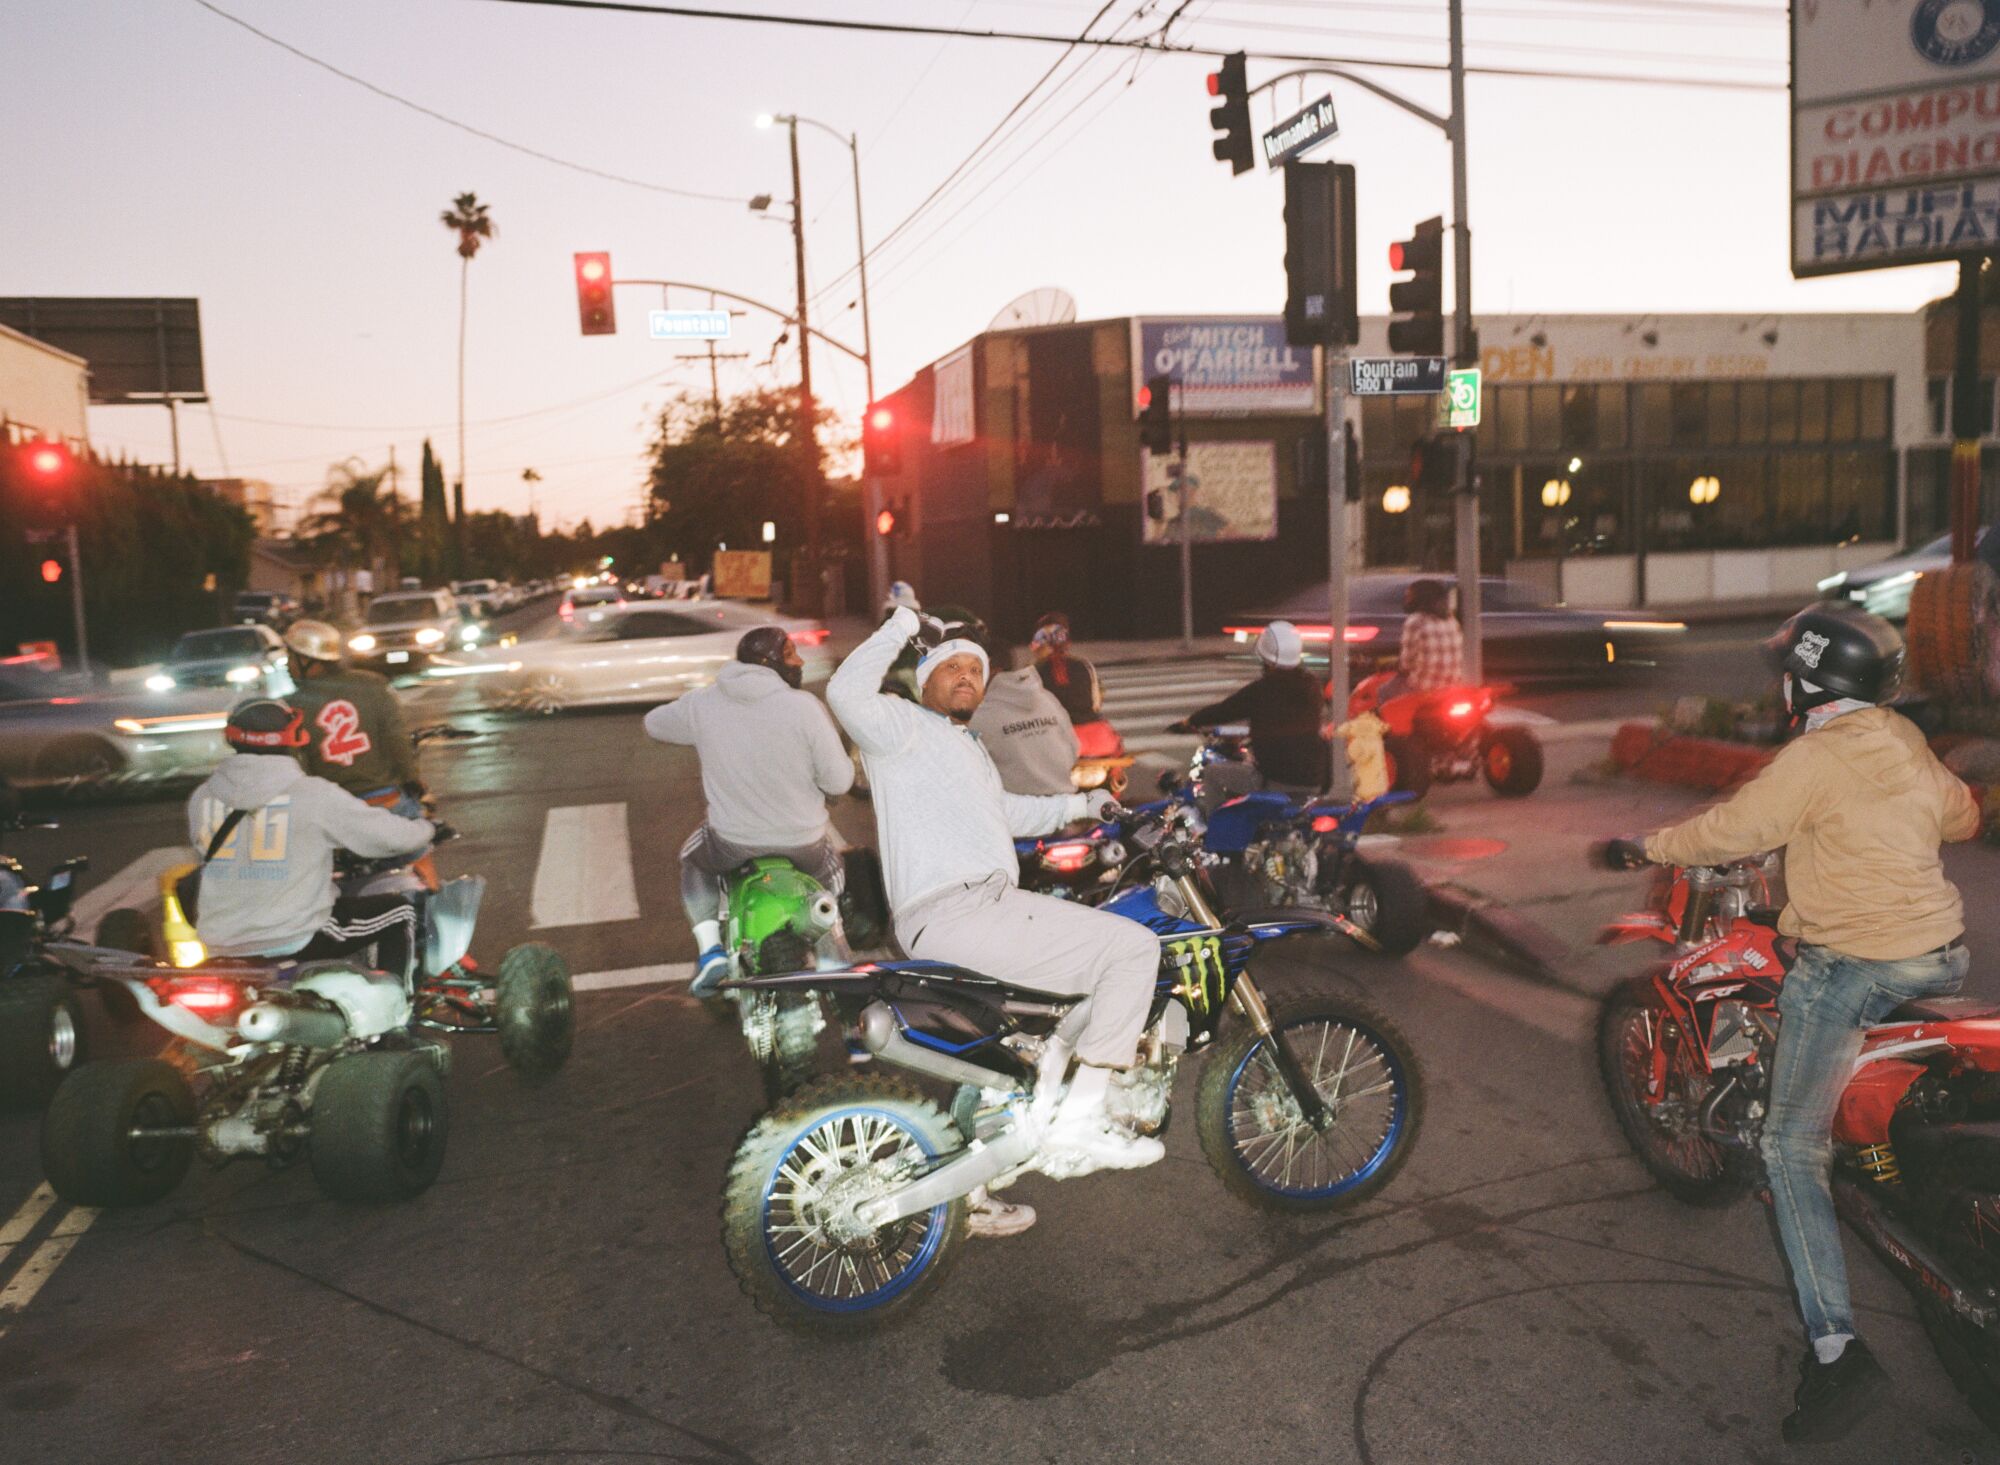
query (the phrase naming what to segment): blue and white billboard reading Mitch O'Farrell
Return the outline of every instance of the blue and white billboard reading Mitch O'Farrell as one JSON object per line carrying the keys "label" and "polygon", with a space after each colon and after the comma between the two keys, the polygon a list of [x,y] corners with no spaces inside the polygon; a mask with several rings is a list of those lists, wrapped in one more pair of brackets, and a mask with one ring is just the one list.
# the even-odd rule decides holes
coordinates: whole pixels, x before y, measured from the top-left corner
{"label": "blue and white billboard reading Mitch O'Farrell", "polygon": [[[1172,376],[1174,412],[1248,416],[1320,410],[1310,346],[1284,338],[1284,316],[1134,320],[1132,394]],[[1136,408],[1134,408],[1136,410]]]}

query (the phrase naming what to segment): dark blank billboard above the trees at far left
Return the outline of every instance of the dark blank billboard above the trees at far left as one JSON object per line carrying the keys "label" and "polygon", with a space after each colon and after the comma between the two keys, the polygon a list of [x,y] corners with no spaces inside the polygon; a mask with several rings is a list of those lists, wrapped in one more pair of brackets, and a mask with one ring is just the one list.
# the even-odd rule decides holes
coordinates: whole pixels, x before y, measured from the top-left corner
{"label": "dark blank billboard above the trees at far left", "polygon": [[90,400],[206,402],[202,302],[144,296],[0,298],[0,324],[90,362]]}

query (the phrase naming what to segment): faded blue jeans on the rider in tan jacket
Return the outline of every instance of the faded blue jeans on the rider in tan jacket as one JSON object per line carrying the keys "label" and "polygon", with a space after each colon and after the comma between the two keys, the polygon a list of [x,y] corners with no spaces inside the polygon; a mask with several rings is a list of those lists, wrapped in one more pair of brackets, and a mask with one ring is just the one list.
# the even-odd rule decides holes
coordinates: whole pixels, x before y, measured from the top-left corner
{"label": "faded blue jeans on the rider in tan jacket", "polygon": [[1764,1121],[1764,1169],[1808,1341],[1854,1333],[1828,1175],[1834,1109],[1854,1075],[1862,1031],[1882,1023],[1900,1003],[1956,993],[1968,963],[1964,947],[1904,961],[1864,961],[1798,945],[1798,961],[1778,995],[1784,1023]]}

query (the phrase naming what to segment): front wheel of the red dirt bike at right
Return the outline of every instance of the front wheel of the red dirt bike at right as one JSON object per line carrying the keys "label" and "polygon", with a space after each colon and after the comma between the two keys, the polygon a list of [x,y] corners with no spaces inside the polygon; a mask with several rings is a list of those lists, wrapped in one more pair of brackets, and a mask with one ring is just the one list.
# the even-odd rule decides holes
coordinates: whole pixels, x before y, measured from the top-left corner
{"label": "front wheel of the red dirt bike at right", "polygon": [[1656,1069],[1654,1047],[1658,1039],[1672,1037],[1666,1031],[1672,1021],[1648,977],[1612,989],[1598,1017],[1604,1093],[1640,1165],[1668,1195],[1688,1205],[1728,1205],[1750,1189],[1754,1167],[1748,1157],[1702,1133],[1700,1109],[1710,1081],[1688,1073],[1676,1043],[1668,1045],[1668,1061]]}

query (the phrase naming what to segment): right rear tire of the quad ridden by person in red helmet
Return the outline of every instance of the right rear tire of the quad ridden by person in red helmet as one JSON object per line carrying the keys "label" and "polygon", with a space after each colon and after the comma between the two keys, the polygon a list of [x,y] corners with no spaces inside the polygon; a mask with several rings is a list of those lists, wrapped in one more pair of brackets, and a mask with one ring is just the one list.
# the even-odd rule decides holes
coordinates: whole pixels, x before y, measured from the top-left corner
{"label": "right rear tire of the quad ridden by person in red helmet", "polygon": [[408,1201],[444,1165],[438,1067],[408,1049],[334,1059],[312,1091],[312,1179],[336,1201]]}

